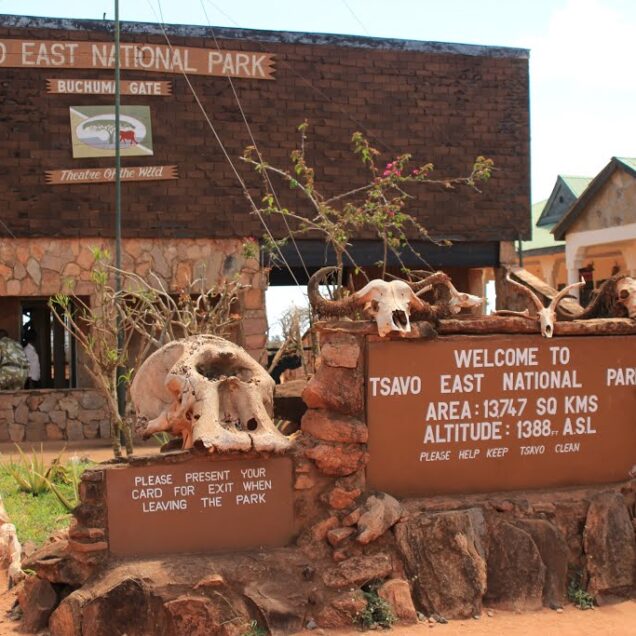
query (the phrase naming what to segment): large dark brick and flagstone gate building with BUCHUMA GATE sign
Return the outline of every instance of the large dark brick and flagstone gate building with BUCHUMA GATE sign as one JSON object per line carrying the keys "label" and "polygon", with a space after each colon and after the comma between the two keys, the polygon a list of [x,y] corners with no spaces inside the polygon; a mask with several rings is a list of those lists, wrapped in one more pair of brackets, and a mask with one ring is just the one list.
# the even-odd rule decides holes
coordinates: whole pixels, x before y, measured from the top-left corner
{"label": "large dark brick and flagstone gate building with BUCHUMA GATE sign", "polygon": [[[47,300],[70,278],[90,303],[91,249],[113,251],[112,41],[112,22],[0,16],[0,327],[15,338],[27,318],[38,327],[42,391],[58,402],[88,385]],[[328,195],[367,180],[352,154],[355,131],[383,159],[409,152],[418,164],[433,162],[440,177],[467,174],[478,155],[494,160],[483,193],[422,189],[409,209],[432,237],[452,240],[440,247],[410,237],[419,257],[458,287],[481,292],[502,250],[529,237],[526,50],[124,23],[122,80],[123,266],[141,276],[152,270],[174,293],[201,272],[209,281],[241,276],[252,288],[241,299],[238,340],[257,358],[266,285],[302,284],[332,255],[309,235],[298,249],[284,248],[288,268],[266,275],[262,263],[246,260],[244,243],[265,229],[241,185],[258,202],[260,178],[239,157],[256,145],[270,164],[289,165],[304,120],[316,181]],[[283,204],[303,205],[275,187]],[[287,234],[280,219],[266,224],[277,238]],[[352,253],[369,266],[381,245],[361,236]],[[421,266],[419,257],[405,255]],[[3,397],[0,438],[25,400],[29,412],[43,412],[41,398]],[[71,419],[86,420],[77,413]],[[19,419],[17,437],[36,439],[53,424],[42,415],[31,426],[24,409]]]}

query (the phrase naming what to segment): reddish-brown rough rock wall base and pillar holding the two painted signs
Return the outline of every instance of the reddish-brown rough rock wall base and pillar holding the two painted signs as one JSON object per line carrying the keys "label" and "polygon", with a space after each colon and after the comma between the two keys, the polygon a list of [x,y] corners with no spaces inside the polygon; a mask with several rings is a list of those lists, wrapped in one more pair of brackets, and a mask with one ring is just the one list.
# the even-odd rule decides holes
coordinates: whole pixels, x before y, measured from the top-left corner
{"label": "reddish-brown rough rock wall base and pillar holding the two painted signs", "polygon": [[[160,626],[162,633],[179,634],[183,625],[196,624],[200,633],[211,625],[218,633],[243,633],[222,626],[229,602],[241,625],[255,620],[272,633],[296,633],[359,623],[370,592],[399,622],[427,618],[431,625],[479,617],[486,608],[558,609],[573,581],[599,604],[633,594],[636,480],[400,501],[368,490],[364,369],[372,329],[366,323],[322,326],[319,368],[303,394],[302,432],[287,453],[294,465],[292,545],[165,556],[161,571],[148,560],[112,560],[109,467],[97,467],[83,476],[68,538],[25,564],[37,573],[29,586],[51,588],[54,602],[41,625],[50,616],[54,635],[88,625],[106,635],[115,609],[134,605],[134,615],[118,623],[120,631],[134,625],[150,633]],[[431,337],[430,326],[415,324],[412,335]],[[197,452],[135,459],[133,465],[160,466],[192,455]],[[68,586],[79,589],[63,597],[58,590],[66,593]],[[32,607],[27,600],[23,606],[25,612]]]}

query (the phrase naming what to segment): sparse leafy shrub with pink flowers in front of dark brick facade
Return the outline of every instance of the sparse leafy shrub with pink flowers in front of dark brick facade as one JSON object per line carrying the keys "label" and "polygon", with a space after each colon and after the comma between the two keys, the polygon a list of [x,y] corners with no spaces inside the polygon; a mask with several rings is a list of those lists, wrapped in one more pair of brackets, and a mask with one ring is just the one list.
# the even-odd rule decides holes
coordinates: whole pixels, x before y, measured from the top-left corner
{"label": "sparse leafy shrub with pink flowers in front of dark brick facade", "polygon": [[[413,196],[406,191],[408,186],[436,184],[446,189],[465,186],[479,191],[479,185],[488,181],[493,170],[493,161],[479,156],[472,164],[470,173],[461,177],[434,179],[431,175],[433,164],[420,164],[410,167],[411,155],[404,153],[392,161],[380,162],[380,152],[370,145],[360,132],[353,134],[351,141],[353,153],[368,169],[370,181],[358,188],[342,194],[326,197],[318,189],[315,182],[315,169],[306,157],[308,123],[302,123],[300,145],[291,152],[291,169],[279,168],[267,163],[254,146],[248,146],[243,153],[243,161],[252,165],[263,177],[263,207],[259,214],[278,215],[284,217],[292,237],[308,232],[316,232],[324,238],[327,245],[333,248],[338,265],[337,294],[342,293],[342,271],[345,257],[355,265],[349,251],[351,238],[365,230],[371,230],[383,245],[383,259],[378,263],[382,278],[386,275],[389,252],[393,253],[402,268],[406,271],[401,258],[403,249],[411,249],[408,233],[415,231],[419,236],[432,239],[424,228],[407,211],[407,203]],[[290,210],[280,205],[274,192],[270,176],[281,178],[292,190],[298,190],[309,203],[308,210]],[[272,241],[264,237],[266,247],[275,256],[286,238]],[[449,244],[448,241],[441,241]],[[359,270],[359,268],[356,269]],[[362,272],[364,275],[364,272]]]}

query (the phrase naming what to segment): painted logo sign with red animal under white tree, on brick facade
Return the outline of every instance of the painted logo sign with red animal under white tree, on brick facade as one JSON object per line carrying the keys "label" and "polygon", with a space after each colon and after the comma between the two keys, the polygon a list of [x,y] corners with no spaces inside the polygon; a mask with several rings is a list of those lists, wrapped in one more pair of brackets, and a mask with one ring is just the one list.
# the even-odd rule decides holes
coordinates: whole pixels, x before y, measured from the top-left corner
{"label": "painted logo sign with red animal under white tree, on brick facade", "polygon": [[[115,107],[71,106],[73,157],[115,156]],[[152,127],[148,106],[122,106],[119,142],[121,155],[153,154]]]}

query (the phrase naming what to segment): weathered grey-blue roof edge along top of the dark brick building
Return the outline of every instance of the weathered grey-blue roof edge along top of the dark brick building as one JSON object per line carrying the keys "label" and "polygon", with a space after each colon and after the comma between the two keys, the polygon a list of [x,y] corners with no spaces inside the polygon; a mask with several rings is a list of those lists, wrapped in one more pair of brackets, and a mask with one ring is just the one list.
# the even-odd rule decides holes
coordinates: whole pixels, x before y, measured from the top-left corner
{"label": "weathered grey-blue roof edge along top of the dark brick building", "polygon": [[[59,29],[65,31],[113,31],[112,20],[76,20],[74,18],[46,18],[0,14],[0,27],[22,29]],[[121,33],[163,35],[160,24],[153,22],[121,22]],[[414,51],[468,55],[473,57],[501,57],[529,59],[528,49],[481,44],[455,44],[446,42],[424,42],[400,40],[398,38],[376,38],[358,35],[304,33],[295,31],[266,31],[261,29],[238,29],[231,27],[211,27],[185,24],[166,24],[168,35],[175,37],[205,38],[217,37],[224,40],[258,40],[271,44],[313,44],[346,46],[375,50]]]}

